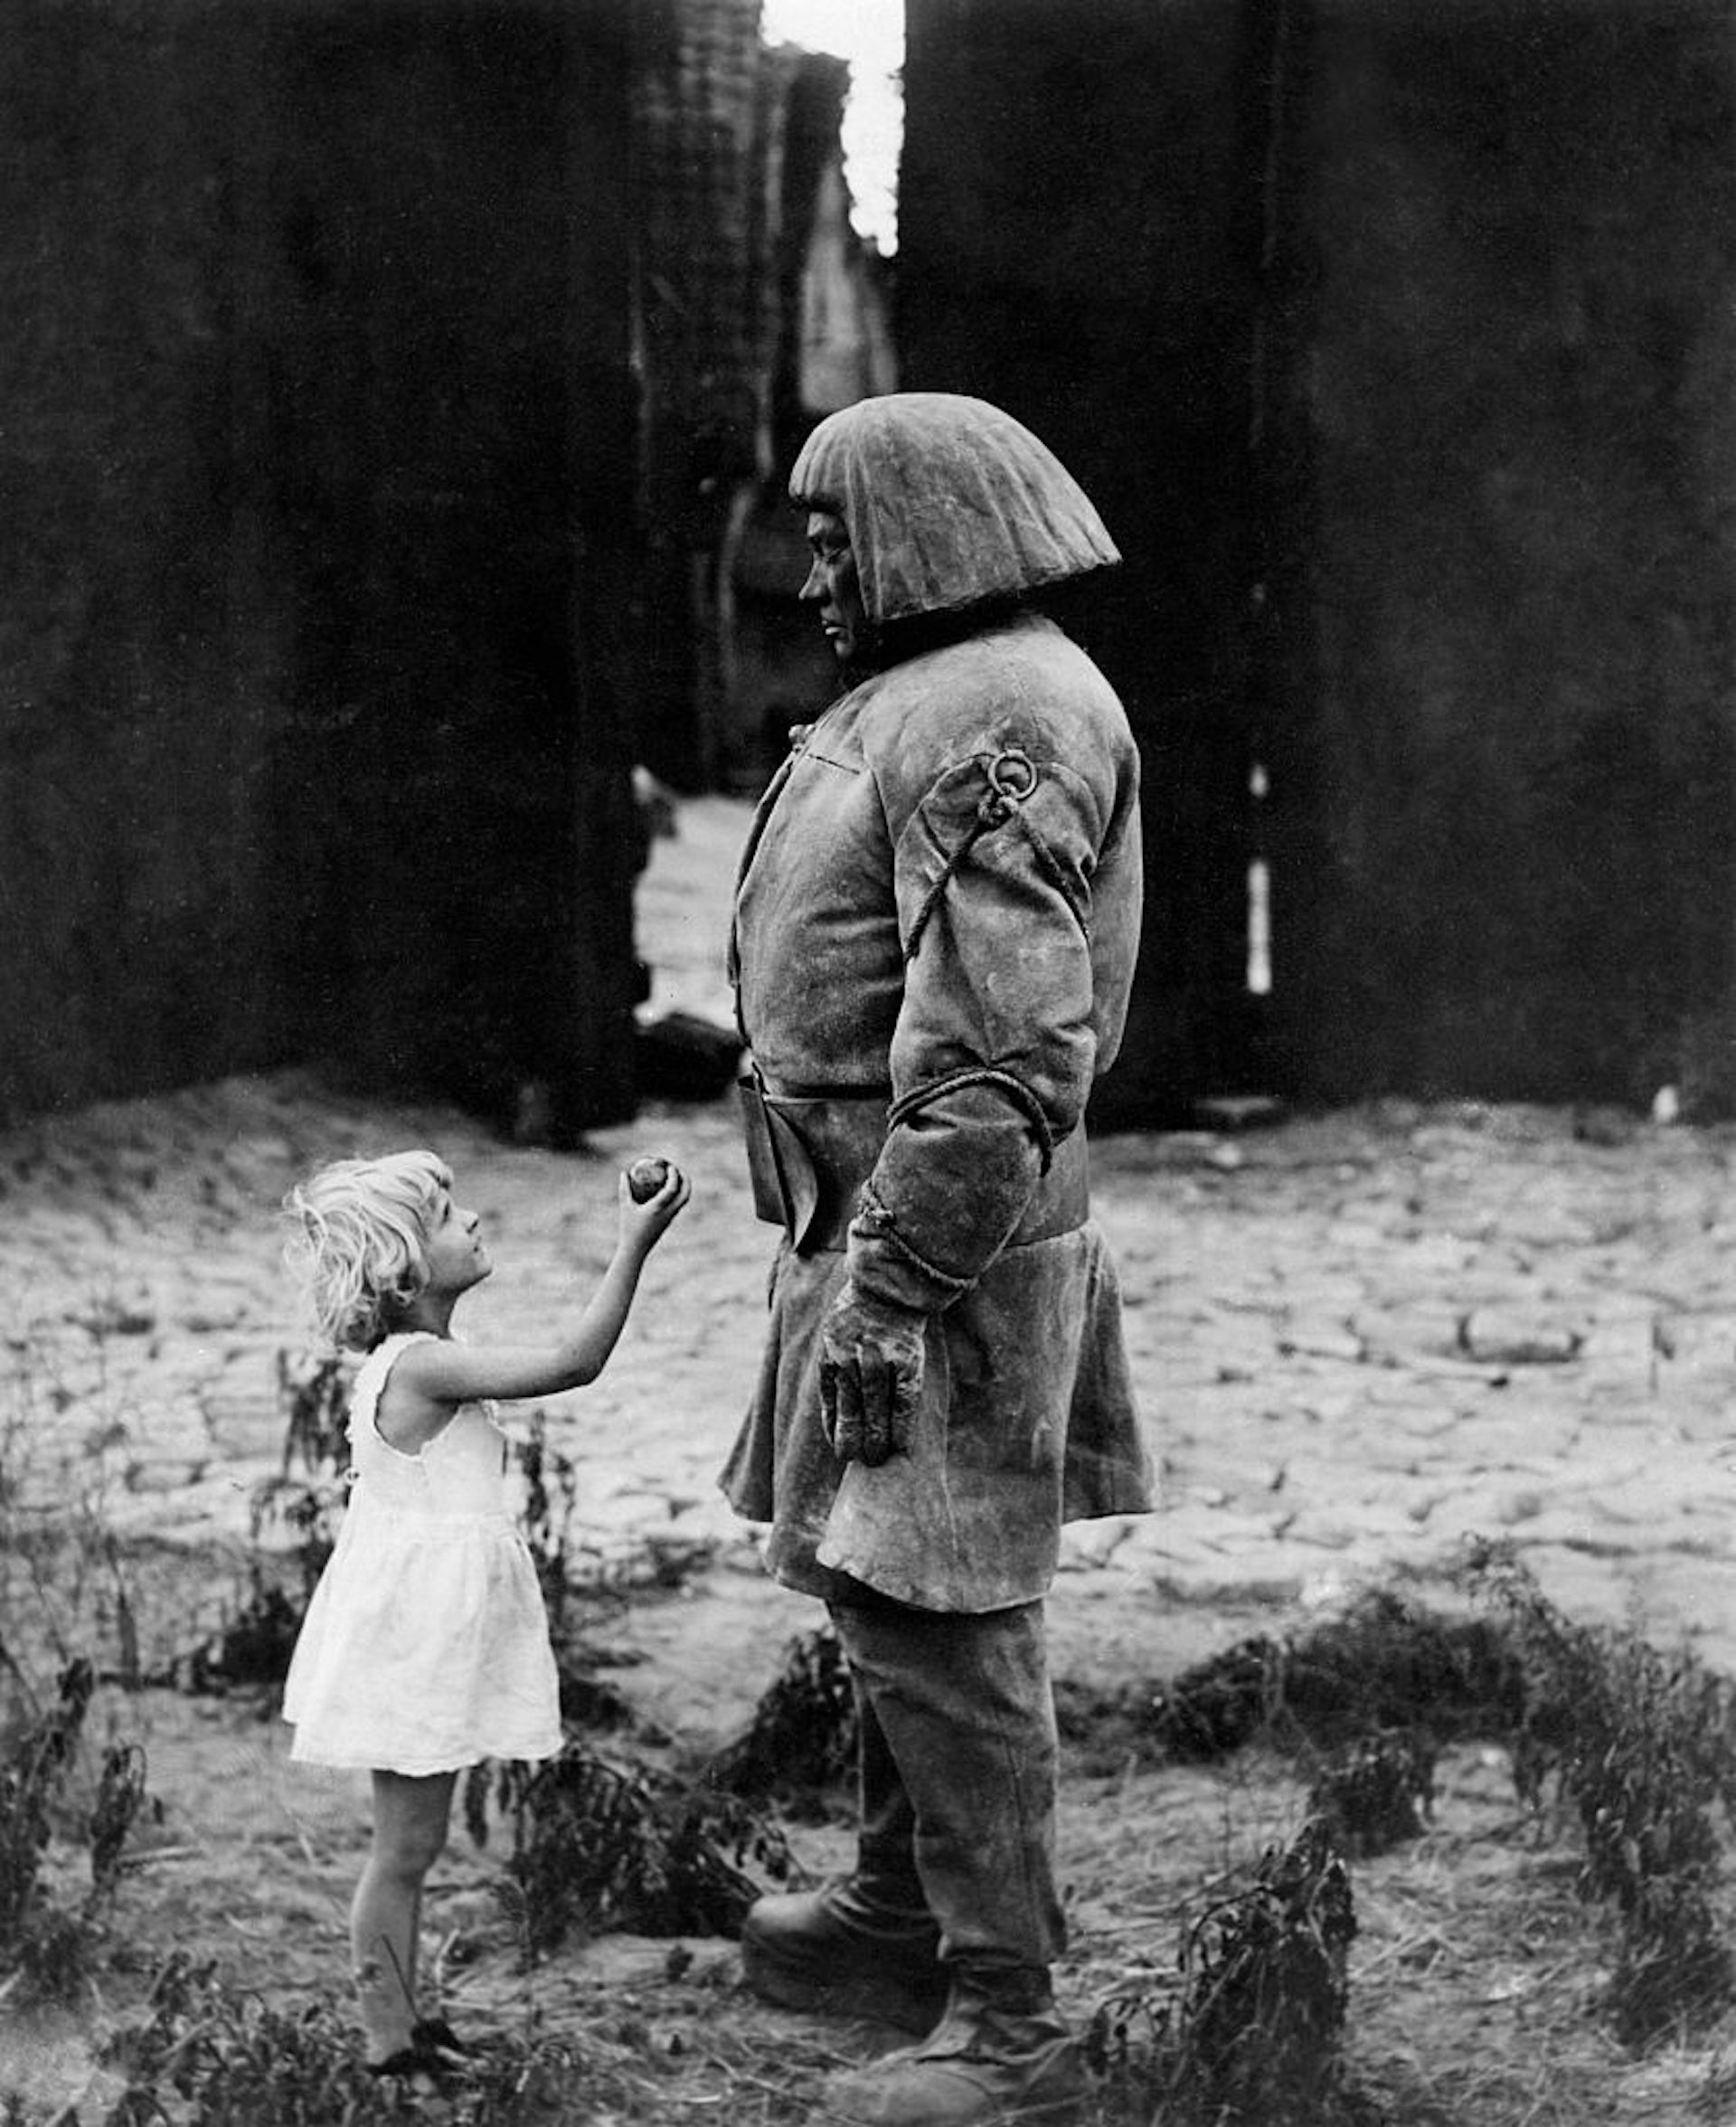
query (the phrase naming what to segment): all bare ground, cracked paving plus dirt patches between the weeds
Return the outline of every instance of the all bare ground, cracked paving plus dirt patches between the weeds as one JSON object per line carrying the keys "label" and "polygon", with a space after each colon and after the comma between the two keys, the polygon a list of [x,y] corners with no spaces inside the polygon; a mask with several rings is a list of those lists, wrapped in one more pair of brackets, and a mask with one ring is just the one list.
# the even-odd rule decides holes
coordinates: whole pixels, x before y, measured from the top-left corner
{"label": "all bare ground, cracked paving plus dirt patches between the weeds", "polygon": [[[742,823],[706,800],[657,844],[640,891],[653,1012],[728,1017],[719,912]],[[249,1500],[281,1466],[279,1353],[302,1340],[277,1204],[328,1157],[415,1142],[451,1159],[491,1234],[500,1270],[466,1302],[479,1340],[536,1334],[583,1295],[632,1153],[666,1151],[694,1176],[608,1372],[547,1410],[577,1472],[587,1644],[670,1738],[664,1757],[691,1763],[734,1734],[817,1623],[764,1578],[753,1531],[715,1493],[770,1255],[730,1102],[662,1104],[553,1153],[285,1072],[0,1138],[15,1702],[79,1646],[149,1674],[234,1610]],[[1430,1593],[1466,1534],[1513,1540],[1574,1617],[1736,1668],[1732,1151],[1727,1132],[1608,1112],[1404,1104],[1100,1140],[1096,1198],[1166,1489],[1153,1517],[1074,1531],[1051,1606],[1057,1676],[1155,1689],[1359,1587],[1400,1576]],[[89,1738],[143,1746],[155,1814],[77,1999],[0,1997],[0,2104],[13,2093],[28,2121],[108,2116],[121,2082],[100,2040],[170,1946],[287,2008],[345,1987],[360,1778],[291,1768],[270,1693],[104,1685]],[[1059,1989],[1081,2021],[1117,1993],[1162,1995],[1187,1916],[1289,1838],[1300,1808],[1298,1770],[1266,1755],[1155,1768],[1072,1744]],[[847,1850],[836,1823],[791,1842],[811,1870]],[[885,2042],[757,2008],[715,1938],[672,1957],[602,1936],[528,1972],[500,1861],[455,1831],[430,1887],[453,2021],[574,2031],[594,2050],[630,2040],[655,2070],[640,2112],[574,2089],[572,2121],[798,2121],[830,2063]],[[53,1868],[72,1882],[70,1846]],[[1736,2118],[1717,2095],[1736,2027],[1645,2055],[1610,2038],[1596,2012],[1608,1923],[1572,1872],[1564,1827],[1521,1810],[1504,1753],[1483,1744],[1445,1755],[1421,1838],[1357,1863],[1351,2055],[1383,2116]],[[1104,2084],[1104,2121],[1136,2116],[1128,2104]]]}

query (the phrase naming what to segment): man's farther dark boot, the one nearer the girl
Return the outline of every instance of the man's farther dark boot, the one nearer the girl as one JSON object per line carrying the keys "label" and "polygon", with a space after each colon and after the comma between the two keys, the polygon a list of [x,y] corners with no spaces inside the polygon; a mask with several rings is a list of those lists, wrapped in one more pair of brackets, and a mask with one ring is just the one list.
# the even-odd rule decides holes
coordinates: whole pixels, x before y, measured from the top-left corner
{"label": "man's farther dark boot, the one nearer the girl", "polygon": [[762,1897],[742,1923],[742,1976],[762,2002],[930,2031],[947,2006],[940,1929],[874,1906],[855,1880]]}

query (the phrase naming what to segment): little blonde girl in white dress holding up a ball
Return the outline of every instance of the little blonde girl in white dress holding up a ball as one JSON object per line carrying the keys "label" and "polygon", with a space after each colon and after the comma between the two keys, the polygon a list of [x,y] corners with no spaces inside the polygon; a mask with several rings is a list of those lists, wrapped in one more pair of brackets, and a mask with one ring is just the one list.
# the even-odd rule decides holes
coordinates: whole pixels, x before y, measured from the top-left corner
{"label": "little blonde girl in white dress holding up a ball", "polygon": [[374,1836],[351,1906],[368,2067],[419,2076],[466,2050],[417,2019],[421,1885],[460,1770],[562,1746],[555,1659],[530,1548],[506,1500],[494,1397],[555,1395],[602,1372],[645,1259],[691,1189],[674,1168],[640,1204],[617,1183],[602,1285],[555,1344],[472,1351],[457,1300],[494,1268],[434,1153],[340,1159],[291,1189],[287,1255],[321,1334],[366,1351],[349,1408],[353,1491],[302,1623],[283,1716],[291,1757],[366,1765]]}

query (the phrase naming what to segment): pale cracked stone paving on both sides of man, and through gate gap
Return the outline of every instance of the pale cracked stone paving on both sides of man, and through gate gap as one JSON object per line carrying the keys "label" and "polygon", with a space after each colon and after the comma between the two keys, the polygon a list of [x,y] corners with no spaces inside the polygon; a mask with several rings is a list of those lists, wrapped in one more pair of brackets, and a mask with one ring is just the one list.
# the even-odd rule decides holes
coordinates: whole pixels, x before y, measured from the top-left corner
{"label": "pale cracked stone paving on both sides of man, and through gate gap", "polygon": [[[745,808],[683,808],[640,895],[653,1006],[725,1012]],[[298,1340],[277,1202],[338,1153],[436,1142],[500,1270],[468,1334],[536,1336],[608,1253],[613,1172],[696,1178],[604,1378],[549,1406],[583,1546],[751,1563],[715,1493],[760,1338],[770,1232],[725,1100],[583,1153],[285,1074],[0,1138],[0,1453],[47,1512],[89,1497],[164,1544],[240,1544],[279,1466]],[[1736,1668],[1736,1134],[1608,1112],[1385,1104],[1242,1136],[1096,1144],[1164,1506],[1068,1542],[1068,1591],[1330,1600],[1510,1538],[1574,1614]],[[464,1317],[462,1317],[464,1321]],[[34,1491],[32,1491],[34,1487]]]}

